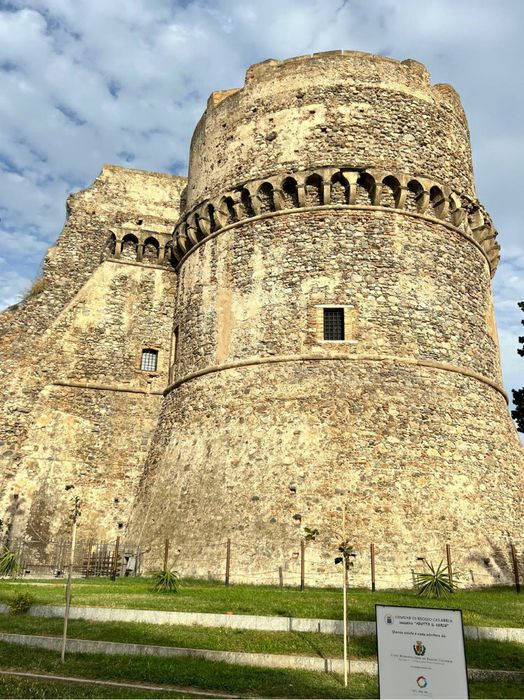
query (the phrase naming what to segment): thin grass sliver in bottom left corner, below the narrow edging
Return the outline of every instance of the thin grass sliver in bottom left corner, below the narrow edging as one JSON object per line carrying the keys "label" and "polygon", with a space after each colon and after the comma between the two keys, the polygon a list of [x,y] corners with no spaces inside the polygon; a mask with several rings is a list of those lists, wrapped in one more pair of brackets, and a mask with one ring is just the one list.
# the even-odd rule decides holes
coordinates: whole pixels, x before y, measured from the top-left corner
{"label": "thin grass sliver in bottom left corner, below the narrow edging", "polygon": [[[0,675],[0,697],[2,698],[157,698],[158,691],[115,688],[91,683],[67,683],[44,681]],[[162,698],[194,698],[194,695],[163,691]]]}

